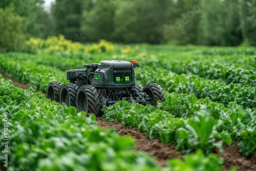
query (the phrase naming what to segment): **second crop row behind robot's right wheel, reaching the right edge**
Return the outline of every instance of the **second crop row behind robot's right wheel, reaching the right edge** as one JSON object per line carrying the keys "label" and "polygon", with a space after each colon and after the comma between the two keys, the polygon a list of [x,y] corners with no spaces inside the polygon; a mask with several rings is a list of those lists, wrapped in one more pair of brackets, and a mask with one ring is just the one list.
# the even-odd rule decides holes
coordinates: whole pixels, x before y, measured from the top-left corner
{"label": "second crop row behind robot's right wheel, reaching the right edge", "polygon": [[222,79],[227,84],[239,83],[242,87],[256,87],[256,71],[252,67],[211,60],[185,62],[159,60],[158,63],[162,68],[177,74],[195,74],[207,79]]}

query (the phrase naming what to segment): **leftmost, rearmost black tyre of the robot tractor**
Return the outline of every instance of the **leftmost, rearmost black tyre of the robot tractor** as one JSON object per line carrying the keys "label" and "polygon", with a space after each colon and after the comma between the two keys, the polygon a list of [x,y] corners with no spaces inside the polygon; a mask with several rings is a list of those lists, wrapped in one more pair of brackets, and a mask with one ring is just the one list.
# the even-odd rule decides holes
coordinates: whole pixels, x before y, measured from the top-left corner
{"label": "leftmost, rearmost black tyre of the robot tractor", "polygon": [[59,102],[60,90],[62,87],[61,82],[53,81],[48,84],[46,98],[51,99],[51,101]]}

